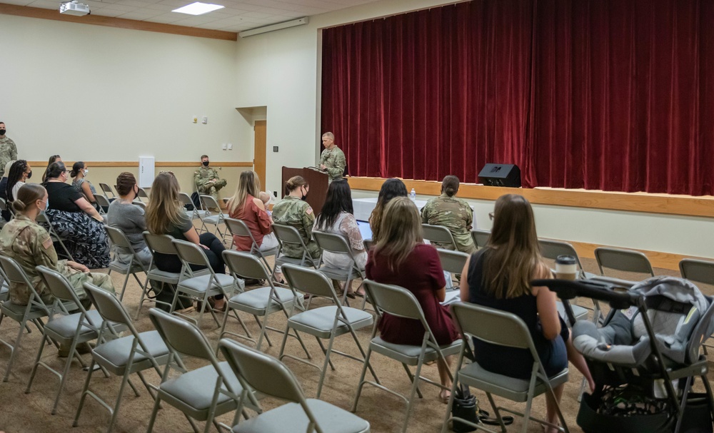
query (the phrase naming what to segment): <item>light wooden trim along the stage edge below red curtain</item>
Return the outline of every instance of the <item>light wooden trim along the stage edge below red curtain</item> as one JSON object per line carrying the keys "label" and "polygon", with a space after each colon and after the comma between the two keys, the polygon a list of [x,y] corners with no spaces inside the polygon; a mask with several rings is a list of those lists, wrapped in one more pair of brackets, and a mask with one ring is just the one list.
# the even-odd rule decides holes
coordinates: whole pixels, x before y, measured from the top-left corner
{"label": "light wooden trim along the stage edge below red curtain", "polygon": [[[378,191],[386,178],[348,178],[352,189]],[[441,194],[441,182],[403,179],[407,190],[414,188],[418,194]],[[533,204],[568,206],[630,212],[663,213],[714,218],[714,197],[705,195],[617,193],[596,190],[565,190],[560,188],[504,188],[498,186],[462,183],[458,190],[461,198],[496,200],[503,194],[520,194]]]}

